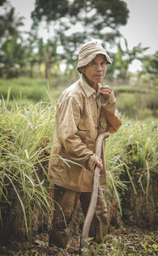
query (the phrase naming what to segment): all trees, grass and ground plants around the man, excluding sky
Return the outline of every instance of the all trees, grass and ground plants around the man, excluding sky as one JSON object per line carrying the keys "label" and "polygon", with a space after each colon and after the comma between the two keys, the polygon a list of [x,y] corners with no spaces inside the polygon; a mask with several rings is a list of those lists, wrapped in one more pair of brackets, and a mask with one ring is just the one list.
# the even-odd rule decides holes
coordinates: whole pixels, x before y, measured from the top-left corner
{"label": "all trees, grass and ground plants around the man, excluding sky", "polygon": [[[126,24],[129,15],[126,3],[36,0],[33,26],[28,33],[21,32],[24,19],[17,16],[7,0],[0,2],[0,10],[0,241],[8,241],[13,235],[14,247],[21,238],[19,253],[34,255],[39,252],[41,241],[36,241],[36,249],[28,250],[24,248],[26,237],[31,241],[35,234],[49,231],[53,201],[47,169],[56,100],[66,86],[79,78],[77,50],[85,39],[93,37],[106,41],[106,48],[111,45],[118,49],[116,53],[109,52],[113,64],[103,83],[115,91],[123,124],[106,143],[108,186],[104,196],[111,235],[99,246],[89,241],[83,254],[156,255],[158,59],[157,52],[145,55],[147,48],[141,44],[129,49],[120,35],[119,27]],[[40,21],[47,21],[48,28],[54,25],[51,38],[43,40],[38,36]],[[76,23],[83,30],[69,33]],[[134,59],[142,63],[137,75],[128,70]],[[76,241],[82,221],[78,208],[77,228],[73,227]],[[131,225],[152,231],[147,235]],[[70,253],[70,244],[67,250],[54,248],[51,252],[47,240],[46,235],[39,255]],[[78,254],[78,249],[73,248],[72,255]],[[0,254],[7,252],[0,245]]]}

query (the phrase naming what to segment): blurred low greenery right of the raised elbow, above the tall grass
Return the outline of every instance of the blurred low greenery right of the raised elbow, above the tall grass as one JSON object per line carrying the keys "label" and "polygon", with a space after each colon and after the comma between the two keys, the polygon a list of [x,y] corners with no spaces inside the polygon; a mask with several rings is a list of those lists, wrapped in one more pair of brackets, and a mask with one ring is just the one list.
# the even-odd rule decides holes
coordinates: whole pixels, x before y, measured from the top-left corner
{"label": "blurred low greenery right of the raised elbow, above the tall grass", "polygon": [[148,84],[135,86],[115,86],[117,106],[122,114],[127,117],[143,120],[146,117],[158,117],[156,88],[149,88]]}

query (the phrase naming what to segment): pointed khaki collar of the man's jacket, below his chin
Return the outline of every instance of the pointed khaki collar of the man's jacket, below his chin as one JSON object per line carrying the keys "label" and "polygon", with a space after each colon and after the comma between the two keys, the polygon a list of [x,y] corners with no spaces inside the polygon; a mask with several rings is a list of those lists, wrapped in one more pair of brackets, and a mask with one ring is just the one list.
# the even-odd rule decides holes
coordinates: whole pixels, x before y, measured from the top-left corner
{"label": "pointed khaki collar of the man's jacket, below his chin", "polygon": [[100,83],[98,84],[97,91],[92,87],[88,85],[88,82],[85,80],[84,75],[81,75],[80,78],[80,84],[82,89],[85,91],[85,94],[87,97],[90,97],[92,94],[99,95],[100,94]]}

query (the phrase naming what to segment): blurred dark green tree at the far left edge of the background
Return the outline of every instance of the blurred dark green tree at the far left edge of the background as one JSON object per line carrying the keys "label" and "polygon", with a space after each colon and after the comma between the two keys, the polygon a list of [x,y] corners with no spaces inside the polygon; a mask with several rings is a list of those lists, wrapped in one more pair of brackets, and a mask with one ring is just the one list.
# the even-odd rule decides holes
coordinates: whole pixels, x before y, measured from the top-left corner
{"label": "blurred dark green tree at the far left edge of the background", "polygon": [[15,9],[3,1],[3,14],[0,15],[0,76],[6,78],[19,75],[24,66],[24,47],[19,27],[23,17],[15,15]]}

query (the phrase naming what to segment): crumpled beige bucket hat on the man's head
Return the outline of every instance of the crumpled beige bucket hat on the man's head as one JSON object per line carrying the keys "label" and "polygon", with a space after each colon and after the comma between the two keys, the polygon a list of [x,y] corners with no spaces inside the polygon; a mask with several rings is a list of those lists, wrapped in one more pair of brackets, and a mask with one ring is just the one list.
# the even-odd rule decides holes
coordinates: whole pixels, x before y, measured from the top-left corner
{"label": "crumpled beige bucket hat on the man's head", "polygon": [[103,46],[98,41],[90,41],[86,44],[83,44],[80,49],[78,55],[77,71],[79,67],[84,67],[90,63],[92,59],[95,59],[97,54],[105,55],[107,64],[112,63],[109,55],[107,55],[107,51],[103,48]]}

